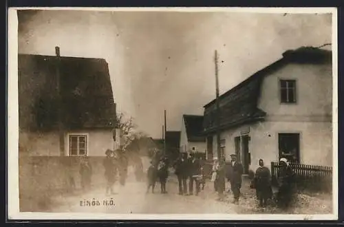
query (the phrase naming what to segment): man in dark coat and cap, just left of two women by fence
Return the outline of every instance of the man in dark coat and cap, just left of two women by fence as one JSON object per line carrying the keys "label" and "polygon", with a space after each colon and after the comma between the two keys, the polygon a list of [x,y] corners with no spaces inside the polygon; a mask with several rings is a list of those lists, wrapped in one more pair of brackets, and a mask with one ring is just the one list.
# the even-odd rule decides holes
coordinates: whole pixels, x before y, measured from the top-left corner
{"label": "man in dark coat and cap, just left of two women by fence", "polygon": [[230,179],[230,190],[233,192],[233,204],[239,204],[240,188],[242,182],[243,166],[237,161],[237,155],[230,155],[230,167],[231,175]]}

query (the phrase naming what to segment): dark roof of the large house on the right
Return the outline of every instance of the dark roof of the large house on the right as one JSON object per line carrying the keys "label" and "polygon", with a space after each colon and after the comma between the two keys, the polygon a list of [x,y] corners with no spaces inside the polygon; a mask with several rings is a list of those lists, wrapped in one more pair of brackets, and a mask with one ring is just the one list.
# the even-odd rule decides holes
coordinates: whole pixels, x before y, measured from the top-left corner
{"label": "dark roof of the large house on the right", "polygon": [[[331,63],[332,52],[316,47],[300,47],[297,50],[288,50],[283,58],[259,70],[239,85],[219,96],[220,129],[237,127],[244,123],[264,120],[266,113],[257,107],[261,91],[261,81],[264,76],[275,72],[288,63],[321,64]],[[216,130],[215,99],[204,105],[204,133]]]}

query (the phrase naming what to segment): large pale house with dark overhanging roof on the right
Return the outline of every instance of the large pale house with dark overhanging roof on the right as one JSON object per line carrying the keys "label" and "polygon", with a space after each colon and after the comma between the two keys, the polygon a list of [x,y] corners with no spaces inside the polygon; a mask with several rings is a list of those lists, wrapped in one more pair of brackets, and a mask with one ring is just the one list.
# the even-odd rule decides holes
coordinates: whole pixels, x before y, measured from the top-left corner
{"label": "large pale house with dark overhanging roof on the right", "polygon": [[288,50],[275,63],[204,106],[208,159],[236,153],[244,172],[279,158],[332,166],[332,52],[317,47]]}

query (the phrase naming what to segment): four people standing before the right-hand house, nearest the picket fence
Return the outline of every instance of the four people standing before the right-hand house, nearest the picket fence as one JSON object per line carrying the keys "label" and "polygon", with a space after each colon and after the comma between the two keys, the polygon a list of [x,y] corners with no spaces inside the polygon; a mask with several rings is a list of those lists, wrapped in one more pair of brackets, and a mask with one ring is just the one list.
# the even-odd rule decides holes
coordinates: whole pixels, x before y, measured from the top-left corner
{"label": "four people standing before the right-hand house, nearest the picket fence", "polygon": [[[286,158],[281,158],[279,163],[280,167],[277,173],[278,192],[273,197],[270,170],[264,166],[264,160],[259,160],[259,167],[253,175],[250,187],[255,188],[257,201],[261,207],[267,206],[269,199],[275,199],[280,208],[288,208],[290,202],[292,202],[292,196],[294,195],[294,173]],[[243,166],[237,161],[237,155],[230,155],[229,163],[226,163],[224,158],[222,160],[214,159],[211,181],[219,195],[219,200],[224,199],[227,181],[230,182],[230,191],[233,193],[233,204],[239,204],[242,174]]]}

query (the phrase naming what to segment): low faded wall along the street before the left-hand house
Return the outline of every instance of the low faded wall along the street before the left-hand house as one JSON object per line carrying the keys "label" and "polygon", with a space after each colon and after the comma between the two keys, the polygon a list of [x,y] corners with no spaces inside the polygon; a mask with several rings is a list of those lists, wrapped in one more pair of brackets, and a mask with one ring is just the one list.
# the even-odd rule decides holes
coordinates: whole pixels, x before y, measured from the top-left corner
{"label": "low faded wall along the street before the left-hand house", "polygon": [[[92,185],[105,185],[103,160],[89,157]],[[19,158],[19,204],[21,211],[45,210],[52,195],[80,189],[80,157],[24,156]],[[129,173],[133,167],[129,166]]]}

